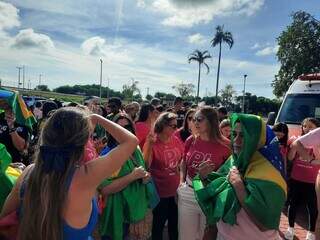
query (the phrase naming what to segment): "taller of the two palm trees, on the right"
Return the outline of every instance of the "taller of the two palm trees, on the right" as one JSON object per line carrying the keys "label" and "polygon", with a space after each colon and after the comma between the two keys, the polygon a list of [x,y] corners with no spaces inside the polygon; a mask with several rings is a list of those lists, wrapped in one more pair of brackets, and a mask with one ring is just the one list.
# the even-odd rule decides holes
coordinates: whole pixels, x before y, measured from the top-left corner
{"label": "taller of the two palm trees, on the right", "polygon": [[218,25],[216,27],[216,35],[211,40],[211,46],[215,47],[219,44],[219,62],[218,62],[218,72],[217,72],[217,84],[216,84],[216,99],[218,97],[219,88],[219,75],[220,75],[220,61],[221,61],[221,45],[225,42],[229,45],[230,49],[233,46],[233,37],[231,32],[223,31],[223,26]]}

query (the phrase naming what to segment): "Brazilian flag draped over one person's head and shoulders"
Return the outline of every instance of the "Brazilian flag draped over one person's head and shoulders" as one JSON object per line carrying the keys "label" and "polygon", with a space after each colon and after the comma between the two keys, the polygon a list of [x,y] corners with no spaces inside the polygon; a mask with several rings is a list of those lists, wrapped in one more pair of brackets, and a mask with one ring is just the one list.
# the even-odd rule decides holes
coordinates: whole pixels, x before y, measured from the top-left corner
{"label": "Brazilian flag draped over one person's head and shoulders", "polygon": [[235,166],[247,191],[246,208],[267,229],[278,229],[287,194],[278,142],[271,128],[258,116],[233,114],[232,129],[237,122],[241,123],[243,133],[240,154],[233,154],[217,172],[209,174],[208,184],[204,185],[199,176],[193,179],[196,199],[208,224],[220,220],[236,224],[241,206],[228,181],[228,173]]}

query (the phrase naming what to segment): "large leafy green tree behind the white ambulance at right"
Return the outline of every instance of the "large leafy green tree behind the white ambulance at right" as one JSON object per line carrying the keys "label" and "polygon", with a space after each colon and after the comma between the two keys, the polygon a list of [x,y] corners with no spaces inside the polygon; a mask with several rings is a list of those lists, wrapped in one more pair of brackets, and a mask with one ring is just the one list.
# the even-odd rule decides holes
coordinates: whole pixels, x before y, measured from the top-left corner
{"label": "large leafy green tree behind the white ambulance at right", "polygon": [[320,71],[320,22],[304,11],[292,14],[293,22],[277,38],[281,64],[273,80],[273,93],[283,96],[301,74]]}

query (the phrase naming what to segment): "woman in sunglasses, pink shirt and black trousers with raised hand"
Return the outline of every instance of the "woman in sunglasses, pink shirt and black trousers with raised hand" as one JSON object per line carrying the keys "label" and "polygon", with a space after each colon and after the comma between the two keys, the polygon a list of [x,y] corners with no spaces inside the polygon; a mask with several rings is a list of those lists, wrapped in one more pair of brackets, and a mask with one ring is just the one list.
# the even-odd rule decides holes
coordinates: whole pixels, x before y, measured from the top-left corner
{"label": "woman in sunglasses, pink shirt and black trousers with raised hand", "polygon": [[183,146],[174,136],[176,128],[177,115],[162,113],[155,122],[154,134],[149,134],[143,149],[160,196],[160,203],[153,210],[153,240],[162,240],[167,220],[169,239],[178,239],[178,207],[175,196],[180,183],[179,165]]}

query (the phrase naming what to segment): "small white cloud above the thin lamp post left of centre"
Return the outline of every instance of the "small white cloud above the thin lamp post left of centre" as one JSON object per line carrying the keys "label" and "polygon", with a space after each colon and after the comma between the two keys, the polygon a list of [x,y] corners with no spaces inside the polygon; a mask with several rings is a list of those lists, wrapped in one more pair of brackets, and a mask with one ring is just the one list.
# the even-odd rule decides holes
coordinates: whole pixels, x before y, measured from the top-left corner
{"label": "small white cloud above the thin lamp post left of centre", "polygon": [[128,51],[123,50],[121,43],[118,43],[117,45],[107,44],[106,40],[99,36],[91,37],[85,40],[81,44],[81,49],[87,55],[105,57],[112,61],[132,61]]}

